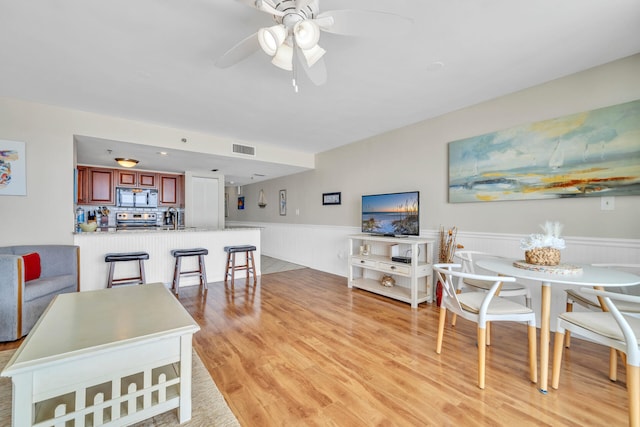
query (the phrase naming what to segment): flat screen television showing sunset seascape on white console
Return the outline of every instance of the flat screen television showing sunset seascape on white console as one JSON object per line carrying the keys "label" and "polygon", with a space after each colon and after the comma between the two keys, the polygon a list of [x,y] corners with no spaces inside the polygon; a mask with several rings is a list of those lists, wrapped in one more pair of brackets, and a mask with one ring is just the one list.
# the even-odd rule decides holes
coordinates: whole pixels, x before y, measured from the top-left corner
{"label": "flat screen television showing sunset seascape on white console", "polygon": [[362,196],[362,232],[394,237],[420,235],[420,192]]}

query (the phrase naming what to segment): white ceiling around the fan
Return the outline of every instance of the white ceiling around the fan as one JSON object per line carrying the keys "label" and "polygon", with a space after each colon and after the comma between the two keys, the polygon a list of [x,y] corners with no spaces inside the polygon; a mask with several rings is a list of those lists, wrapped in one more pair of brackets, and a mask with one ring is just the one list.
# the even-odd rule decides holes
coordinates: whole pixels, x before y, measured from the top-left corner
{"label": "white ceiling around the fan", "polygon": [[[273,24],[238,1],[0,0],[0,96],[317,153],[640,52],[638,0],[320,2],[348,8],[414,23],[406,35],[323,33],[328,81],[299,79],[295,93],[261,51],[214,66]],[[84,145],[81,163],[97,155]],[[257,180],[297,171],[263,166]],[[259,168],[237,169],[248,180]]]}

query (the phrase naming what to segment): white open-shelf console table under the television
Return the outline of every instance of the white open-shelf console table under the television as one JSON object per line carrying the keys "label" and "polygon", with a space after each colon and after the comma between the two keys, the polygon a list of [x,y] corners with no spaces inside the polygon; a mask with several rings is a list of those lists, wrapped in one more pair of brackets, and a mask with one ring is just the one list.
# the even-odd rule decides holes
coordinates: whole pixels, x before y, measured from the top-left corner
{"label": "white open-shelf console table under the television", "polygon": [[[370,245],[368,254],[360,247]],[[391,247],[398,245],[398,255],[410,256],[411,263],[391,260]],[[385,237],[368,234],[349,236],[350,288],[359,288],[384,295],[418,307],[422,302],[433,301],[433,251],[435,241],[417,237]],[[383,286],[380,279],[390,274],[396,284]]]}

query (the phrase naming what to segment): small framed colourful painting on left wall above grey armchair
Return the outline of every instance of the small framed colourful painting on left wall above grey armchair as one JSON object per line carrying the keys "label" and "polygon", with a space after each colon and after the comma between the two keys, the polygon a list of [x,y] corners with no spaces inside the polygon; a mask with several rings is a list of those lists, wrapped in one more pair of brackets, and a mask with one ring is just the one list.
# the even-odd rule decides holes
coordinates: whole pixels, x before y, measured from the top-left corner
{"label": "small framed colourful painting on left wall above grey armchair", "polygon": [[0,195],[27,195],[25,144],[0,139]]}

